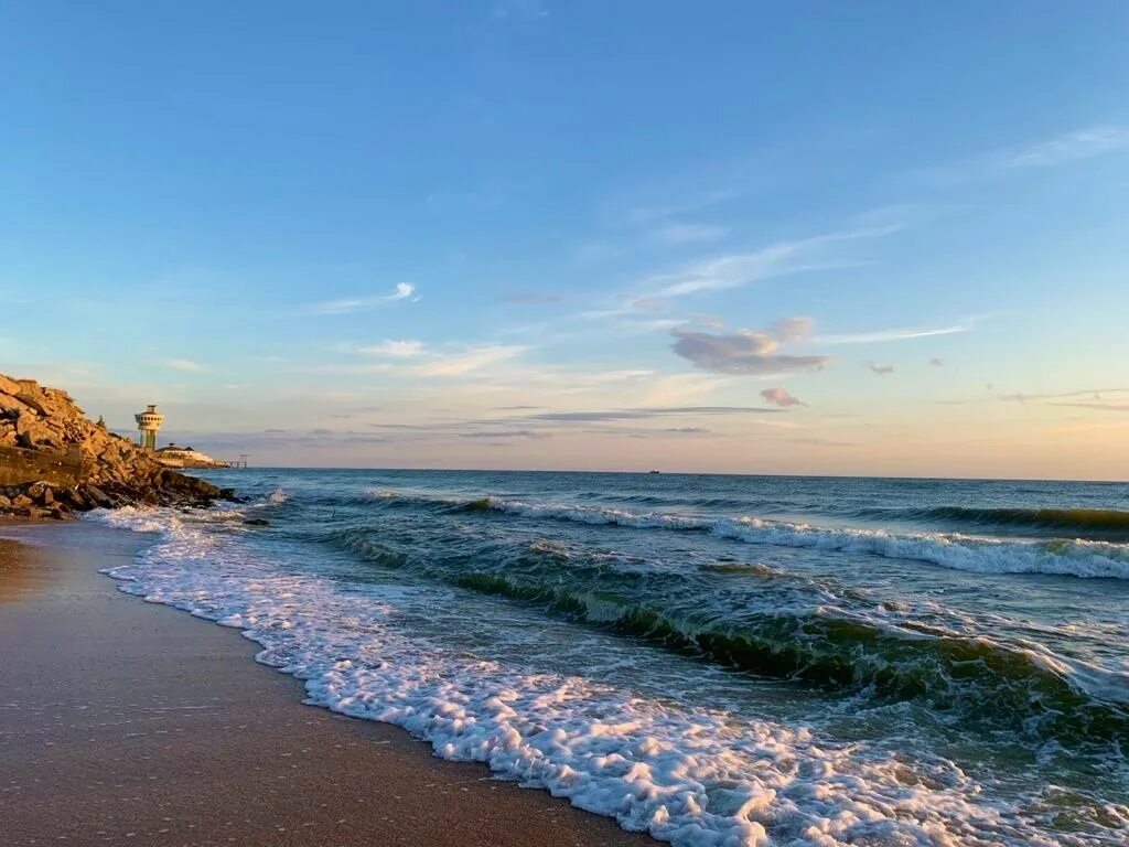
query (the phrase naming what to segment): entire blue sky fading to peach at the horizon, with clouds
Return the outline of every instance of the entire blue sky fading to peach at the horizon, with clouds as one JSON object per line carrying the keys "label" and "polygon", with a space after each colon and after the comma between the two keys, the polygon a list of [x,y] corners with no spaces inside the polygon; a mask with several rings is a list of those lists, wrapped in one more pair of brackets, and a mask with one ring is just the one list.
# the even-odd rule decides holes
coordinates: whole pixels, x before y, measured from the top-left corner
{"label": "entire blue sky fading to peach at the horizon, with clouds", "polygon": [[255,465],[1129,479],[1129,5],[0,5],[0,372]]}

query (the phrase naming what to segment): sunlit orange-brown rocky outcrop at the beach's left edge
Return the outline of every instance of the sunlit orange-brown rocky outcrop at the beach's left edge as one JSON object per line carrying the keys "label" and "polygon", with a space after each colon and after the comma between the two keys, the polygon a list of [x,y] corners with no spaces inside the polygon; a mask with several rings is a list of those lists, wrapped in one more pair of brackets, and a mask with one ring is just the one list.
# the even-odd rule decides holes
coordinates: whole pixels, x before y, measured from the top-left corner
{"label": "sunlit orange-brown rocky outcrop at the beach's left edge", "polygon": [[65,391],[0,374],[0,515],[67,517],[124,505],[231,498],[87,420]]}

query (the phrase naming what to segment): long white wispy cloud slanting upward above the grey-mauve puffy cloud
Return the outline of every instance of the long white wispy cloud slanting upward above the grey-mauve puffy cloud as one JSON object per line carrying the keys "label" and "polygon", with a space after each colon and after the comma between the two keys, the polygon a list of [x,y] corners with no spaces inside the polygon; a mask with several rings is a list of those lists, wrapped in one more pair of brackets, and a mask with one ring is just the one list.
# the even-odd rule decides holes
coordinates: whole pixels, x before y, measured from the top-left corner
{"label": "long white wispy cloud slanting upward above the grey-mauve puffy cloud", "polygon": [[779,242],[751,253],[729,253],[675,271],[656,273],[642,281],[653,297],[684,297],[699,291],[739,288],[764,279],[805,271],[855,268],[859,260],[829,255],[828,248],[850,242],[879,238],[898,232],[898,224]]}

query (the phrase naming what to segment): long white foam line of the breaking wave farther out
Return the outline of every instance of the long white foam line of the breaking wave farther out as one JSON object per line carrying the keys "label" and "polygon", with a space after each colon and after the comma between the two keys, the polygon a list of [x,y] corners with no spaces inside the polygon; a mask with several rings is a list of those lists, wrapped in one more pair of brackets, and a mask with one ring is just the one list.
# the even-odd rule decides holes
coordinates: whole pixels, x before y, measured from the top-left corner
{"label": "long white foam line of the breaking wave farther out", "polygon": [[982,574],[1054,574],[1129,579],[1129,545],[1102,541],[1006,541],[959,533],[890,533],[882,530],[822,527],[756,517],[714,518],[638,513],[491,498],[500,512],[585,524],[638,529],[699,530],[747,544],[870,553],[914,559]]}

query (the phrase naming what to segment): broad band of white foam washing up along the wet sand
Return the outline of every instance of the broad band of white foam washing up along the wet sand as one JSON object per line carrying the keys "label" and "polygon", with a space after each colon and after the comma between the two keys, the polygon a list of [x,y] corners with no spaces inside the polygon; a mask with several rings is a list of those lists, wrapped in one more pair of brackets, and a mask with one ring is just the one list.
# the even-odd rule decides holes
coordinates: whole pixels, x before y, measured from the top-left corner
{"label": "broad band of white foam washing up along the wet sand", "polygon": [[[343,591],[170,510],[94,519],[160,533],[108,571],[123,591],[244,630],[263,646],[260,662],[306,681],[309,702],[397,724],[444,758],[487,762],[627,829],[685,847],[1112,844],[1104,832],[1048,833],[945,760],[903,762],[411,638],[397,604],[427,588]],[[1110,814],[1129,826],[1129,807]]]}

